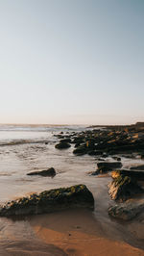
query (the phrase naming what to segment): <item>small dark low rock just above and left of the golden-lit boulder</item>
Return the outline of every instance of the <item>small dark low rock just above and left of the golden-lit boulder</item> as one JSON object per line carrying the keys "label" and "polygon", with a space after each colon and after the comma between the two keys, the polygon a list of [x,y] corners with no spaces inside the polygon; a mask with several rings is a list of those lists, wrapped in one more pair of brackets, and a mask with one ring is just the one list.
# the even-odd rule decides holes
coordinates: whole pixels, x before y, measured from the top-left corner
{"label": "small dark low rock just above and left of the golden-lit boulder", "polygon": [[115,168],[121,168],[122,167],[122,163],[121,162],[100,162],[97,164],[98,166],[98,171],[100,173],[106,173],[108,171],[111,171],[112,169]]}

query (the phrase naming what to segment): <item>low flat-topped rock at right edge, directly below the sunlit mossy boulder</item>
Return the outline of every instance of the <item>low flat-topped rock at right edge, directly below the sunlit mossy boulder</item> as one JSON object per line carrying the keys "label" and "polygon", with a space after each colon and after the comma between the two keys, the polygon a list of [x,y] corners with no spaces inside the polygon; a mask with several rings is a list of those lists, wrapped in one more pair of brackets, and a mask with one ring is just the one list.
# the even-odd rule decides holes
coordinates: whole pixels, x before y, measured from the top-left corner
{"label": "low flat-topped rock at right edge, directly below the sunlit mossy boulder", "polygon": [[121,203],[108,208],[108,215],[113,218],[131,220],[144,211],[143,203]]}

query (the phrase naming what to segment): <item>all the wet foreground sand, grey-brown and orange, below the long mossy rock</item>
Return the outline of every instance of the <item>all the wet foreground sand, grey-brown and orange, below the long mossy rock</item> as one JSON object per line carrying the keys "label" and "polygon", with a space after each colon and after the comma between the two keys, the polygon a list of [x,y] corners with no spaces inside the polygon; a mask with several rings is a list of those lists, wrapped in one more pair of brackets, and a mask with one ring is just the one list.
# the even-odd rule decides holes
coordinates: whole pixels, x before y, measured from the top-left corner
{"label": "all the wet foreground sand, grey-brown and orange, below the long mossy rock", "polygon": [[3,218],[3,226],[2,221],[0,224],[0,255],[3,256],[144,255],[144,250],[114,239],[115,233],[109,239],[101,222],[88,210]]}

